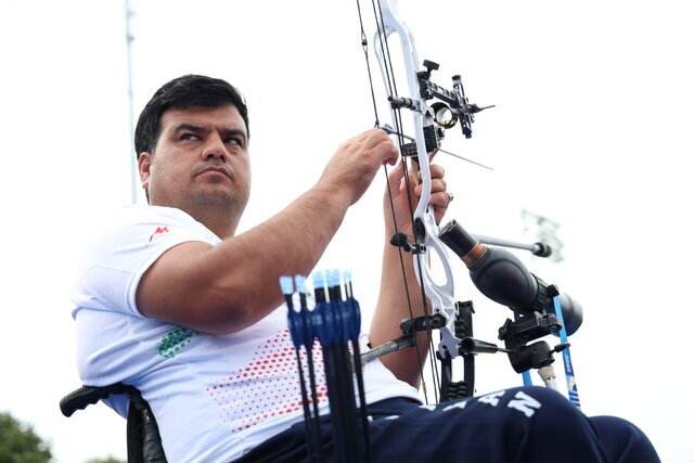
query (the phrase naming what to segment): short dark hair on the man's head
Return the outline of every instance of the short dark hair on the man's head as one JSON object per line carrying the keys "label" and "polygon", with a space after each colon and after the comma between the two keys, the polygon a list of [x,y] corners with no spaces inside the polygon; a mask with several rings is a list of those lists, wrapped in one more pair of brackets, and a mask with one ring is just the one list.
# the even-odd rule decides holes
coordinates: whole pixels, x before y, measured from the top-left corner
{"label": "short dark hair on the man's head", "polygon": [[140,113],[134,129],[136,156],[140,158],[143,151],[154,152],[159,138],[162,115],[167,110],[219,107],[227,104],[236,106],[246,124],[246,137],[250,137],[246,102],[239,90],[226,80],[189,74],[164,83]]}

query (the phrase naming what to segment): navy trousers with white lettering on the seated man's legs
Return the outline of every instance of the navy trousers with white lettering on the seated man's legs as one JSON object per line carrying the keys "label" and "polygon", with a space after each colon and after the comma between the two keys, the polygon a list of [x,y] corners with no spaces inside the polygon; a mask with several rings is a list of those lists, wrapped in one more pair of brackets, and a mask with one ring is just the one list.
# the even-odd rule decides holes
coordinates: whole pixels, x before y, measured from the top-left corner
{"label": "navy trousers with white lettering on the seated man's legs", "polygon": [[[544,387],[421,406],[388,399],[369,406],[372,461],[659,462],[648,438],[614,416],[588,417]],[[321,419],[323,462],[337,462],[330,415]],[[239,462],[308,460],[304,423],[268,439]]]}

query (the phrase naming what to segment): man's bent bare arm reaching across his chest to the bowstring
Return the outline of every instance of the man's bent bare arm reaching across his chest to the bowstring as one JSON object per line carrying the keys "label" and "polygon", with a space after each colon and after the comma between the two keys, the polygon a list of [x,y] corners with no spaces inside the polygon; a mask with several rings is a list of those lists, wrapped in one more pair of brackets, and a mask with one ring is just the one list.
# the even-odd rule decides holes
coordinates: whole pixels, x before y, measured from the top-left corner
{"label": "man's bent bare arm reaching across his chest to the bowstring", "polygon": [[138,309],[207,333],[253,325],[282,304],[279,276],[311,271],[349,206],[397,156],[383,130],[348,140],[318,183],[266,222],[217,246],[183,243],[164,253],[138,286]]}

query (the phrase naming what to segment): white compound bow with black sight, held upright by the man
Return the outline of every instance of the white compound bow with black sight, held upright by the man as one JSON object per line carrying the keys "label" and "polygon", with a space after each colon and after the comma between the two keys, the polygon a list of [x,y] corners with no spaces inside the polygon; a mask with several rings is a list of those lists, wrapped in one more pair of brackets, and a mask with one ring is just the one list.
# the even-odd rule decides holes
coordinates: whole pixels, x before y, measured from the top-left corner
{"label": "white compound bow with black sight, held upright by the man", "polygon": [[[363,29],[363,18],[359,2],[357,4],[361,23],[362,47],[364,48],[371,81],[367,36]],[[422,70],[420,68],[414,38],[399,17],[397,0],[382,0],[380,2],[372,0],[372,5],[377,26],[373,49],[378,60],[383,81],[388,94],[391,124],[395,129],[390,129],[389,126],[383,126],[378,121],[376,99],[373,83],[371,82],[376,126],[398,136],[402,164],[406,169],[406,182],[410,179],[410,175],[407,171],[407,159],[412,159],[411,165],[412,170],[414,170],[412,178],[416,179],[416,170],[419,170],[422,179],[422,194],[416,207],[411,210],[414,243],[407,243],[407,235],[404,234],[396,235],[393,243],[399,245],[401,252],[404,249],[413,254],[414,268],[423,293],[422,299],[425,301],[428,298],[432,307],[430,321],[426,321],[424,324],[427,329],[435,326],[439,330],[441,340],[436,348],[437,356],[439,359],[450,360],[460,355],[460,326],[457,332],[457,323],[460,321],[459,309],[454,299],[453,274],[448,252],[446,245],[438,237],[439,228],[436,223],[434,209],[429,206],[432,195],[429,156],[439,149],[439,141],[444,138],[445,130],[454,127],[457,123],[460,123],[463,134],[470,138],[472,136],[474,114],[484,110],[484,107],[480,108],[468,102],[460,76],[453,76],[452,88],[446,89],[432,81],[432,73],[438,69],[436,63],[424,61],[425,69]],[[397,91],[390,60],[390,48],[388,46],[388,38],[391,35],[396,35],[399,38],[402,65],[408,82],[407,97],[399,95]],[[433,104],[429,104],[430,101],[433,101]],[[404,136],[401,110],[408,110],[412,117],[413,137]],[[413,141],[408,142],[406,139],[413,139]],[[409,184],[407,184],[407,190],[408,193],[411,191]],[[411,200],[410,204],[412,204]],[[435,254],[440,262],[444,273],[442,283],[437,283],[434,279],[432,254]],[[436,373],[434,376],[436,377]]]}

